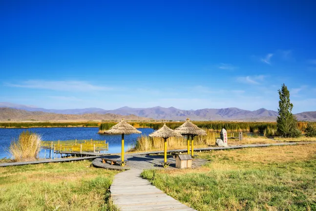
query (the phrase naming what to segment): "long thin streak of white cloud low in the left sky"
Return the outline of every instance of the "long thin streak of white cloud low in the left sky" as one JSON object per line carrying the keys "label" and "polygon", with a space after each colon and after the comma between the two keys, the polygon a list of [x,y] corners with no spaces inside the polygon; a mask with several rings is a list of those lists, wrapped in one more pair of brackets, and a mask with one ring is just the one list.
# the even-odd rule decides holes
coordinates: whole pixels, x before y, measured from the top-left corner
{"label": "long thin streak of white cloud low in the left sky", "polygon": [[6,83],[11,87],[35,88],[35,89],[50,89],[56,91],[104,91],[112,90],[111,87],[89,84],[84,81],[43,81],[43,80],[28,80],[20,84]]}

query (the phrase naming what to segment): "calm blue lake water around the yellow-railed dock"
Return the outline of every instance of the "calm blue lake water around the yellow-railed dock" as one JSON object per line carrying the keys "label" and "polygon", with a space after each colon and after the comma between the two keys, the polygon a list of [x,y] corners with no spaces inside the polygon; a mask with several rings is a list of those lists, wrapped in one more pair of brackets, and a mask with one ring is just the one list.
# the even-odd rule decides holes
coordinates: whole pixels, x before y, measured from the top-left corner
{"label": "calm blue lake water around the yellow-railed dock", "polygon": [[[0,159],[10,155],[6,152],[6,149],[10,146],[10,142],[13,139],[17,139],[19,134],[26,130],[25,128],[0,128]],[[121,152],[121,135],[100,135],[98,134],[98,127],[50,127],[50,128],[29,128],[32,132],[36,132],[42,135],[43,141],[58,141],[58,140],[106,140],[109,143],[109,153]],[[130,134],[125,135],[125,149],[132,147],[136,143],[137,137],[141,135],[148,135],[153,132],[151,128],[138,128],[142,131],[142,134]],[[49,150],[46,150],[46,157],[48,157]],[[40,157],[44,156],[44,150],[40,152]]]}

